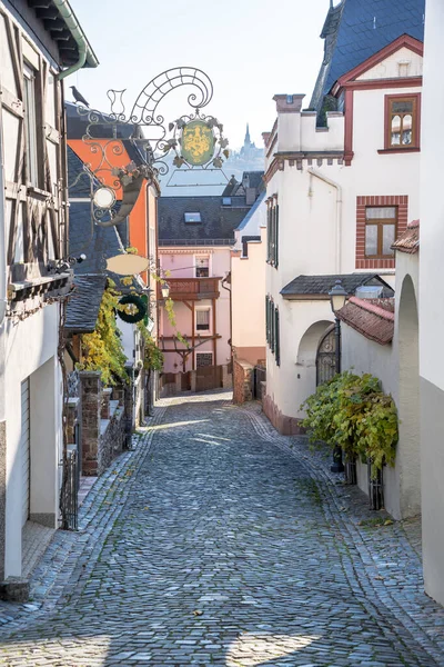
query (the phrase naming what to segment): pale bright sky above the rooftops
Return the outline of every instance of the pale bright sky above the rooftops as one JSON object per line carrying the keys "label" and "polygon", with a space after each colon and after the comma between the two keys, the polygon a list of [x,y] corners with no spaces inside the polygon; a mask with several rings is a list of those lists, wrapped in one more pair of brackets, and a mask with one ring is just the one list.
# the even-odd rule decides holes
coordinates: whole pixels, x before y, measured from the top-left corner
{"label": "pale bright sky above the rooftops", "polygon": [[[224,125],[235,149],[246,122],[252,140],[263,146],[261,135],[275,119],[273,94],[305,93],[309,106],[330,0],[71,0],[71,6],[100,64],[67,78],[67,86],[77,86],[102,111],[110,111],[107,90],[125,88],[131,109],[157,74],[196,67],[214,86],[205,112]],[[190,91],[167,96],[159,108],[167,122],[190,110]]]}

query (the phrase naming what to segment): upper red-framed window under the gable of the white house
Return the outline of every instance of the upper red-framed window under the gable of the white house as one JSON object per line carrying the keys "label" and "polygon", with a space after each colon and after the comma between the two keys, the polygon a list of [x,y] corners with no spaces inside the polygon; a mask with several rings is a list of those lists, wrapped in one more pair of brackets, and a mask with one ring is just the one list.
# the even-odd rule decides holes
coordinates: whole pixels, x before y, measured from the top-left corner
{"label": "upper red-framed window under the gable of the white house", "polygon": [[385,150],[420,147],[420,94],[385,97]]}

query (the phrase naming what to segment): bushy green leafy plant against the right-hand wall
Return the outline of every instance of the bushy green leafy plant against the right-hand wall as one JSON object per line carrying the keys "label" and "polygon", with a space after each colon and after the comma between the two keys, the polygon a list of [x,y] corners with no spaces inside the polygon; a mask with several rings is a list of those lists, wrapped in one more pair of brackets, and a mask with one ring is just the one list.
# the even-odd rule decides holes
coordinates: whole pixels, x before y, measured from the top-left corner
{"label": "bushy green leafy plant against the right-hand wall", "polygon": [[347,460],[370,459],[373,476],[384,464],[394,465],[398,438],[396,406],[374,376],[350,371],[336,375],[320,385],[301,408],[306,410],[303,426],[312,442],[339,445]]}

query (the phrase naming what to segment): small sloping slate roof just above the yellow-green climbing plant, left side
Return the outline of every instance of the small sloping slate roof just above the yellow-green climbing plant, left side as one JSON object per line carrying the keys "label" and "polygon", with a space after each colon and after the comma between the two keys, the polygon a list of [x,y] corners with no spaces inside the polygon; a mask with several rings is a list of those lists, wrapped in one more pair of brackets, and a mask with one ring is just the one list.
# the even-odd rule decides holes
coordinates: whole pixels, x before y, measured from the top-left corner
{"label": "small sloping slate roof just above the yellow-green climbing plant, left side", "polygon": [[88,334],[95,329],[105,285],[103,273],[75,276],[74,290],[67,306],[67,330]]}

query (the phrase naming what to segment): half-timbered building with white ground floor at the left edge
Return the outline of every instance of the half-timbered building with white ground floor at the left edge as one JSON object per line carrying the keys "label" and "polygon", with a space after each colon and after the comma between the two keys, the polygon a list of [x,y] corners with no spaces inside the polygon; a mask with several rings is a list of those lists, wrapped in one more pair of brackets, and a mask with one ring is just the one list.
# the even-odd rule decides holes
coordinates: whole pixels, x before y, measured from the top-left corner
{"label": "half-timbered building with white ground floor at the left edge", "polygon": [[[67,0],[0,1],[0,579],[57,528],[68,259],[63,79],[97,58]],[[24,532],[23,532],[24,529]]]}

